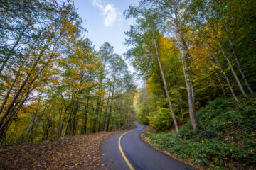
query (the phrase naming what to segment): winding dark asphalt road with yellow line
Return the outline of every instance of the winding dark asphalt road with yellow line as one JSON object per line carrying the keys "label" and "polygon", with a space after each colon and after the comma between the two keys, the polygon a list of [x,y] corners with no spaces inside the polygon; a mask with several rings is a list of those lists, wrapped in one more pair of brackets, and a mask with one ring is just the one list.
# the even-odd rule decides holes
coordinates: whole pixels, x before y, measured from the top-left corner
{"label": "winding dark asphalt road with yellow line", "polygon": [[[147,145],[140,137],[141,132],[146,127],[139,125],[139,123],[136,123],[136,126],[137,128],[134,130],[110,135],[102,145],[102,153],[104,154],[102,162],[109,165],[109,169],[194,170],[193,167],[183,164]],[[123,151],[123,154],[120,150]]]}

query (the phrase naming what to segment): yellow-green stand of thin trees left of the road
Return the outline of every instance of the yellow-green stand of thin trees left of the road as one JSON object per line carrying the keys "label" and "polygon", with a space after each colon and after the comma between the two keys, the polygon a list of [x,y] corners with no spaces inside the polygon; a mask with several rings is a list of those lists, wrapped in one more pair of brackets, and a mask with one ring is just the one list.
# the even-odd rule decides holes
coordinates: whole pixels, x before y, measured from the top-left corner
{"label": "yellow-green stand of thin trees left of the road", "polygon": [[122,130],[134,82],[109,42],[84,38],[72,1],[1,1],[0,142]]}

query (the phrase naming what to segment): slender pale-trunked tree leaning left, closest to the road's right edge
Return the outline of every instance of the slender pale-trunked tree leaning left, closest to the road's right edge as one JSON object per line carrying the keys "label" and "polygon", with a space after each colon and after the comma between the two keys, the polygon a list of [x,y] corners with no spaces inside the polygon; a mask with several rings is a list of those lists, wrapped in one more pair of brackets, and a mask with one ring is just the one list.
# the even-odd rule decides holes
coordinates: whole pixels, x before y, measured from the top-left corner
{"label": "slender pale-trunked tree leaning left, closest to the road's right edge", "polygon": [[[127,53],[127,55],[132,55],[131,57],[136,58],[135,60],[137,60],[137,58],[139,58],[140,56],[138,56],[139,52],[143,52],[146,50],[149,50],[148,54],[143,54],[143,55],[147,55],[147,57],[156,57],[156,61],[159,64],[159,69],[160,69],[160,73],[161,73],[161,78],[162,81],[164,83],[164,91],[166,93],[166,96],[168,98],[168,103],[169,103],[169,110],[171,111],[171,115],[174,121],[174,126],[176,128],[176,132],[178,132],[178,123],[176,121],[175,118],[175,113],[171,104],[171,99],[169,96],[169,91],[167,89],[167,85],[166,85],[166,78],[161,66],[161,61],[159,58],[159,38],[161,38],[161,35],[159,33],[159,28],[158,28],[158,24],[156,22],[156,19],[154,15],[152,15],[149,12],[145,12],[145,11],[140,11],[138,13],[136,13],[137,11],[133,11],[132,8],[130,8],[130,11],[127,11],[127,17],[129,16],[135,16],[137,17],[137,28],[135,27],[131,27],[131,30],[129,32],[127,32],[127,35],[129,35],[130,39],[127,40],[127,43],[131,44],[131,45],[137,45],[137,47],[135,47],[134,49],[131,50],[131,52]],[[139,18],[138,15],[142,15],[141,18]],[[142,40],[139,40],[142,39]],[[141,51],[139,51],[141,50]],[[154,53],[151,53],[154,52]],[[150,60],[150,59],[146,59],[146,60]],[[152,59],[151,59],[152,60]],[[154,59],[153,59],[154,60]],[[139,63],[140,64],[140,63]],[[138,64],[138,65],[139,65]],[[137,65],[134,65],[135,67]],[[144,65],[142,65],[142,67],[144,67]],[[144,70],[144,69],[142,69]]]}

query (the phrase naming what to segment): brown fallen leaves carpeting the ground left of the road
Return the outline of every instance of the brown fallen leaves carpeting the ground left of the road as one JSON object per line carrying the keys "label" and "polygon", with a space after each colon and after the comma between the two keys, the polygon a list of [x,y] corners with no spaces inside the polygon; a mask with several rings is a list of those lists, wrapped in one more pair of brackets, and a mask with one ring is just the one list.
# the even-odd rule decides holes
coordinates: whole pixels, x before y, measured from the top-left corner
{"label": "brown fallen leaves carpeting the ground left of the road", "polygon": [[0,148],[0,169],[108,169],[100,147],[114,132],[62,137]]}

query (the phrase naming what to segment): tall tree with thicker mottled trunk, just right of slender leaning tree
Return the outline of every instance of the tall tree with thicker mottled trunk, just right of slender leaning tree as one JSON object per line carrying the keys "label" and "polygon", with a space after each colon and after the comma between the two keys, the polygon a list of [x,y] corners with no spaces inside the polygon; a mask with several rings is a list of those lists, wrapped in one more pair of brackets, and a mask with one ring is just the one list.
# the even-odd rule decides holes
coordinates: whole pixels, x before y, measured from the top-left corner
{"label": "tall tree with thicker mottled trunk, just right of slender leaning tree", "polygon": [[[158,18],[161,30],[169,29],[172,33],[176,33],[180,39],[182,59],[185,69],[186,89],[188,91],[189,115],[196,133],[196,111],[195,111],[195,95],[193,88],[193,74],[191,72],[190,62],[191,55],[188,52],[188,44],[186,40],[186,24],[183,22],[182,11],[183,1],[154,1],[142,0],[139,6],[130,6],[129,13],[136,18],[140,11],[149,11],[154,17]],[[167,23],[167,24],[166,24]],[[167,26],[167,27],[166,27]]]}

